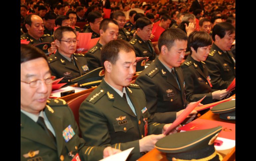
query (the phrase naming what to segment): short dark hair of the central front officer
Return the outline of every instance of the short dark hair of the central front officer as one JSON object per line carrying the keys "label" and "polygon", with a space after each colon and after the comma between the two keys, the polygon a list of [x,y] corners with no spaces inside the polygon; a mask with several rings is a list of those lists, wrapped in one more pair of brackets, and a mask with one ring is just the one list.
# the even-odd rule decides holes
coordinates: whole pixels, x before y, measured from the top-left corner
{"label": "short dark hair of the central front officer", "polygon": [[120,51],[131,52],[134,51],[134,48],[129,42],[121,39],[112,40],[103,46],[100,54],[101,66],[103,69],[105,69],[105,61],[109,61],[112,64],[116,63],[117,59],[119,58]]}

